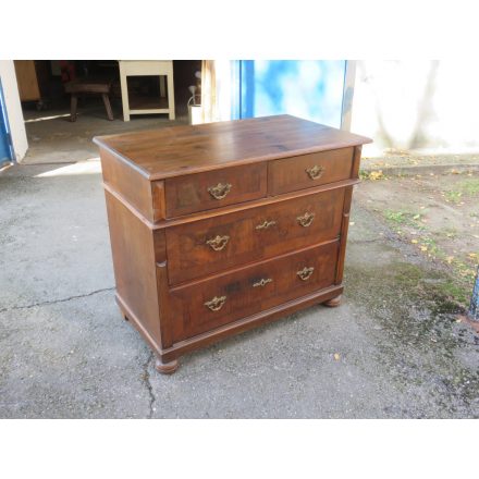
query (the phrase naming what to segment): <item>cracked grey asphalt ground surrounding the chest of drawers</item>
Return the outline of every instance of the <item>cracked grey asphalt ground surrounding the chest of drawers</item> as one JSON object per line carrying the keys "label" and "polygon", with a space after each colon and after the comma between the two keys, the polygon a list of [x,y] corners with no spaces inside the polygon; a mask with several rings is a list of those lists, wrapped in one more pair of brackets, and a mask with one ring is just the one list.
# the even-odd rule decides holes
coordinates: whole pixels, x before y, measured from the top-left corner
{"label": "cracked grey asphalt ground surrounding the chest of drawers", "polygon": [[114,303],[90,165],[0,175],[0,417],[479,417],[478,334],[428,290],[443,273],[357,200],[341,307],[311,307],[157,373]]}

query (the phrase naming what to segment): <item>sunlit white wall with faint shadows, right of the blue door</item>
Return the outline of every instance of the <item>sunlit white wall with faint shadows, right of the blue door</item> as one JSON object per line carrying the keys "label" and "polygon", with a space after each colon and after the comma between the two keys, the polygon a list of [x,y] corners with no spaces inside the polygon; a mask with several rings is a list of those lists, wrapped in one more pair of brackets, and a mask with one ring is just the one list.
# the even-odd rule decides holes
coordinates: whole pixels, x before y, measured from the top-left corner
{"label": "sunlit white wall with faint shadows, right of the blue door", "polygon": [[479,62],[357,61],[351,131],[384,151],[479,151]]}

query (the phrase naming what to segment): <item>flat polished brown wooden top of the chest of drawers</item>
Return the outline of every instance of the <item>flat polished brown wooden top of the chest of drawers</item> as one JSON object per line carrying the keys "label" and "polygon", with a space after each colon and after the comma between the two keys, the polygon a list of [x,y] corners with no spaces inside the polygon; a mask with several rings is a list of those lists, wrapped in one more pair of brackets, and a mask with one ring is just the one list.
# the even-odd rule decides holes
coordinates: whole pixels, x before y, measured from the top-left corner
{"label": "flat polished brown wooden top of the chest of drawers", "polygon": [[94,139],[150,181],[370,143],[287,114]]}

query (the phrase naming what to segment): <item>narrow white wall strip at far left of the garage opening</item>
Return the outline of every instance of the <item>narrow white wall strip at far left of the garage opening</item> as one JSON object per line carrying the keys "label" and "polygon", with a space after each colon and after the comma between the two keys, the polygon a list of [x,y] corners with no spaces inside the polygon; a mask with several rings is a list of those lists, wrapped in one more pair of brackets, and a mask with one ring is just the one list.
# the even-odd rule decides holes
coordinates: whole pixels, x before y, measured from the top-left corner
{"label": "narrow white wall strip at far left of the garage opening", "polygon": [[21,162],[28,149],[22,103],[20,102],[13,60],[0,60],[0,78],[5,99],[7,115],[12,134],[13,150],[16,161]]}

